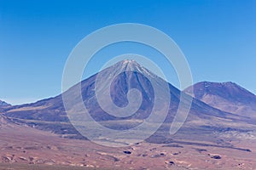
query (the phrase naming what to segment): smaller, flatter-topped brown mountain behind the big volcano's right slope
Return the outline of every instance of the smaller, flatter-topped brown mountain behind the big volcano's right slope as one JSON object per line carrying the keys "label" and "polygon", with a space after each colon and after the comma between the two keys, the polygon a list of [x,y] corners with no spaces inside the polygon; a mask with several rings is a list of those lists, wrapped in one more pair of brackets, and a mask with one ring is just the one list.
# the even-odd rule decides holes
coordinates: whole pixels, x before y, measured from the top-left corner
{"label": "smaller, flatter-topped brown mountain behind the big volcano's right slope", "polygon": [[256,117],[256,95],[234,82],[198,82],[183,92],[222,111]]}

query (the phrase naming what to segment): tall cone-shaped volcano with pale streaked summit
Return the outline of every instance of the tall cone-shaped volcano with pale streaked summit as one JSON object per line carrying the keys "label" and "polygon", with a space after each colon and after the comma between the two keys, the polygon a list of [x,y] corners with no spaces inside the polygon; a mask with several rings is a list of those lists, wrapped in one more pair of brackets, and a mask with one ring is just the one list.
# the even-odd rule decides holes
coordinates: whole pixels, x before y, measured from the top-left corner
{"label": "tall cone-shaped volcano with pale streaked summit", "polygon": [[[111,80],[109,88],[106,88],[104,82],[108,82],[111,75],[114,75],[113,80]],[[137,100],[141,105],[139,105],[137,111],[134,111],[134,114],[130,116],[124,117],[108,114],[107,111],[102,109],[96,99],[96,80],[102,82],[99,83],[97,87],[100,94],[102,94],[102,101],[108,99],[107,92],[109,90],[113,104],[119,108],[125,107],[126,105],[130,105],[128,102],[129,90],[136,88],[141,93],[142,99],[140,101]],[[154,88],[151,82],[154,82]],[[163,88],[165,87],[165,84],[167,85],[167,88]],[[136,127],[140,122],[150,116],[150,113],[154,108],[154,99],[156,98],[156,96],[154,96],[154,91],[159,92],[157,98],[160,99],[161,103],[159,107],[166,107],[166,105],[169,105],[164,123],[160,127],[160,132],[168,132],[170,129],[173,118],[177,114],[181,95],[184,96],[183,103],[185,105],[186,103],[189,103],[189,100],[192,101],[189,116],[181,129],[183,132],[189,132],[189,129],[193,128],[198,129],[198,131],[195,130],[194,133],[197,132],[197,134],[202,134],[206,131],[208,133],[209,130],[222,131],[225,129],[233,129],[231,127],[234,123],[236,123],[236,125],[254,123],[247,116],[237,116],[229,112],[220,111],[205,104],[199,99],[191,98],[191,96],[184,94],[172,86],[172,84],[154,75],[154,73],[148,71],[148,69],[139,65],[136,61],[129,59],[119,61],[92,77],[85,79],[72,88],[69,88],[64,94],[71,95],[72,99],[76,101],[76,99],[79,99],[80,94],[74,92],[78,88],[81,89],[83,104],[94,121],[117,130]],[[73,125],[70,124],[67,112],[63,105],[62,95],[63,94],[54,98],[43,99],[32,104],[12,106],[3,110],[3,113],[14,122],[25,123],[28,126],[58,133],[70,138],[84,139],[84,137],[81,137],[77,130],[73,128]],[[171,98],[169,102],[168,98]],[[131,108],[133,105],[137,105],[137,102],[131,102]],[[108,107],[109,105],[105,106]],[[71,109],[73,110],[76,107],[76,103],[73,102],[73,108]],[[79,117],[79,113],[74,112],[74,114],[78,115],[78,119],[81,118]],[[159,114],[162,113],[160,112]],[[167,134],[163,134],[163,136],[166,135]],[[157,142],[159,142],[159,140]]]}

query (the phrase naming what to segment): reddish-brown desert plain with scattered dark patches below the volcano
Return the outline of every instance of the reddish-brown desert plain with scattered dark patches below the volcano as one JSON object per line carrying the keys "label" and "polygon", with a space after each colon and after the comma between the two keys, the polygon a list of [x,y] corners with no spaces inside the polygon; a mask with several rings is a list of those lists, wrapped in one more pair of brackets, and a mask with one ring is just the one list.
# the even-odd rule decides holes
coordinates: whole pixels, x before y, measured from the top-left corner
{"label": "reddish-brown desert plain with scattered dark patches below the volcano", "polygon": [[63,139],[32,127],[2,123],[0,169],[256,169],[253,134],[223,135],[232,139],[232,147],[199,139],[181,139],[182,135],[177,133],[177,140],[172,143],[142,142],[111,148],[88,140]]}

